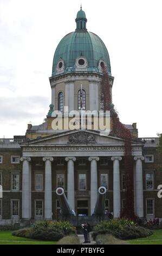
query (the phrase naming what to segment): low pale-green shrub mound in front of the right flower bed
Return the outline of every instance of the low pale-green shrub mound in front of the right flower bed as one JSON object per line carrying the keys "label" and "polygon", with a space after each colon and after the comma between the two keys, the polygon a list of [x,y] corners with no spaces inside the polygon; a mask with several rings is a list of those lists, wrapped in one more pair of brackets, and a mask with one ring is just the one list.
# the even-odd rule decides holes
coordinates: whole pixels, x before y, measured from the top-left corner
{"label": "low pale-green shrub mound in front of the right flower bed", "polygon": [[113,235],[98,235],[96,237],[97,245],[127,245],[127,242],[117,239]]}

